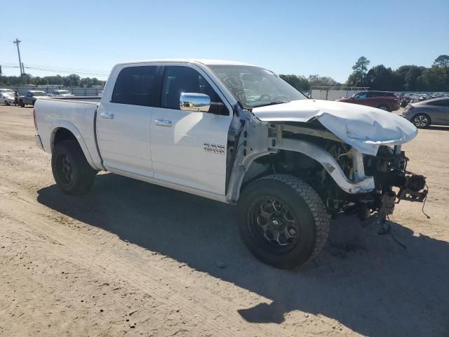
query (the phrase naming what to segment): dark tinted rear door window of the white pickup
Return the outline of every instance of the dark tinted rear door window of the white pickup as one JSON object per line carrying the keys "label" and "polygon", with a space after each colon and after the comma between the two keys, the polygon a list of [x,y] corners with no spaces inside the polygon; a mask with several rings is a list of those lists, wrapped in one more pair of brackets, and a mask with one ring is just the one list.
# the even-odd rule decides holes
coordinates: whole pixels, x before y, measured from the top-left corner
{"label": "dark tinted rear door window of the white pickup", "polygon": [[126,67],[117,77],[111,102],[150,107],[154,103],[155,89],[155,65]]}

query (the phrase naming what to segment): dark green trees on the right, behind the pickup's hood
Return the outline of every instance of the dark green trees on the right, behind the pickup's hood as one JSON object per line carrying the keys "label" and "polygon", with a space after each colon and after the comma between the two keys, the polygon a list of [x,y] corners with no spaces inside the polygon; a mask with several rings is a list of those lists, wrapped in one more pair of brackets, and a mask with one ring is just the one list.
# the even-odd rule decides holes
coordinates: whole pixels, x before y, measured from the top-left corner
{"label": "dark green trees on the right, behind the pickup's hood", "polygon": [[431,67],[403,65],[391,70],[384,65],[375,65],[368,70],[369,65],[370,60],[364,56],[358,58],[344,84],[319,75],[308,78],[294,74],[279,76],[300,91],[310,91],[313,86],[365,86],[381,91],[449,91],[449,55],[439,55]]}

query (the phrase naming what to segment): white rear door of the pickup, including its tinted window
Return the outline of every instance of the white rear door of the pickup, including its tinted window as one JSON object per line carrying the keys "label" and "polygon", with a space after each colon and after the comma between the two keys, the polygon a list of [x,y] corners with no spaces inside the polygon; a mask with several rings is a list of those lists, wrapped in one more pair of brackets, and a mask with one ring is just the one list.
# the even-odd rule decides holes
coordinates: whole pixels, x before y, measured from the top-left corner
{"label": "white rear door of the pickup, including its tinted window", "polygon": [[124,65],[109,79],[114,90],[97,113],[98,145],[109,171],[153,177],[150,132],[159,65]]}

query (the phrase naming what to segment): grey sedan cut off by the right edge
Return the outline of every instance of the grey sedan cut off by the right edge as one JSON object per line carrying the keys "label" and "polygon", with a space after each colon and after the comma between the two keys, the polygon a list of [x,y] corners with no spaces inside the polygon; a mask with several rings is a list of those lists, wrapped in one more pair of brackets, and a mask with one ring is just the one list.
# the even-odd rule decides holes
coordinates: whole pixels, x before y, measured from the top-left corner
{"label": "grey sedan cut off by the right edge", "polygon": [[424,102],[410,103],[402,113],[417,128],[434,125],[449,125],[449,98],[434,98]]}

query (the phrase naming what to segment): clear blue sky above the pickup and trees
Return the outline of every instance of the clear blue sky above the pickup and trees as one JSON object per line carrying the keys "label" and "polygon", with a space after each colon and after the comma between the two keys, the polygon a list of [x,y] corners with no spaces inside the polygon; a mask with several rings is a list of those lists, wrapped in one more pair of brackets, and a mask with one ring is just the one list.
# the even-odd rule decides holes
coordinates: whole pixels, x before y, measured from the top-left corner
{"label": "clear blue sky above the pickup and trees", "polygon": [[25,67],[74,69],[85,73],[81,77],[102,79],[123,60],[220,58],[279,74],[345,81],[361,55],[371,66],[396,68],[428,67],[438,55],[449,54],[448,0],[46,0],[10,5],[0,25],[0,65],[6,75],[20,73],[11,68],[18,65],[16,37],[22,40]]}

